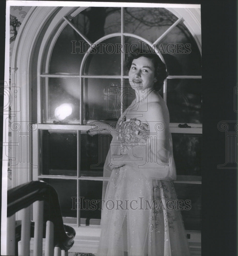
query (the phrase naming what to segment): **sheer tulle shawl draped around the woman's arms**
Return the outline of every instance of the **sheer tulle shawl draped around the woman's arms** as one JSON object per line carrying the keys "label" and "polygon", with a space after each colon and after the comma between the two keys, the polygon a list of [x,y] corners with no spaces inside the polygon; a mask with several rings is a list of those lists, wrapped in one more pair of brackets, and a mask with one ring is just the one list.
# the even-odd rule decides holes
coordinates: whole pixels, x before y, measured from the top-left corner
{"label": "sheer tulle shawl draped around the woman's arms", "polygon": [[[113,138],[103,170],[102,200],[105,199],[106,187],[112,174],[112,170],[116,167],[111,165],[111,156],[120,155],[122,153],[121,143],[118,142],[116,134],[118,124],[121,121],[123,121],[122,117],[120,117],[118,120],[116,128],[112,130]],[[142,123],[140,126],[143,127],[144,124],[145,123]],[[156,124],[153,123],[153,125],[160,127],[156,129],[157,132],[165,129],[161,123],[156,122]],[[147,140],[142,143],[132,143],[131,148],[126,153],[131,159],[134,159],[136,163],[138,162],[136,168],[140,172],[143,172],[143,175],[146,177],[159,180],[176,180],[176,167],[173,156],[173,145],[170,129],[168,128],[168,150],[166,150],[165,148],[158,146],[164,144],[163,140],[158,138],[156,133],[151,134],[149,127],[150,126],[147,125]],[[167,138],[165,140],[167,140]]]}

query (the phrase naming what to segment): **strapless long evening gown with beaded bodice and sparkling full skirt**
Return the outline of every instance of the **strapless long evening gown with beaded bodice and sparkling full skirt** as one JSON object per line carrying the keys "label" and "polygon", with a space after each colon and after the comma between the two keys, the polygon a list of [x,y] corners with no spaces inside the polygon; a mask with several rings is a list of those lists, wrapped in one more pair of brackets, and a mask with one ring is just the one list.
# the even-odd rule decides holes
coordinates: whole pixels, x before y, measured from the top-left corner
{"label": "strapless long evening gown with beaded bodice and sparkling full skirt", "polygon": [[[125,120],[125,116],[117,123],[104,166],[104,177],[110,179],[103,184],[105,203],[96,256],[190,255],[181,213],[173,209],[175,201],[169,201],[177,199],[171,133],[168,162],[164,163],[159,155],[152,159],[149,129],[140,120]],[[134,160],[144,156],[145,163],[116,168],[110,164],[110,154],[128,154]]]}

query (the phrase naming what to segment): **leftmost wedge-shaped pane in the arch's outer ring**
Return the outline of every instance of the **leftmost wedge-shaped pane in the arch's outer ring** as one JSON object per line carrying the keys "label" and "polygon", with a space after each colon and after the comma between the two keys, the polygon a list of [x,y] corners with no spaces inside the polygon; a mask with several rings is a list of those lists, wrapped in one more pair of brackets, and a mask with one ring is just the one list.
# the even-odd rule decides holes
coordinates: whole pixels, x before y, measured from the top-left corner
{"label": "leftmost wedge-shaped pane in the arch's outer ring", "polygon": [[53,47],[49,73],[79,74],[80,64],[88,47],[84,39],[67,24]]}

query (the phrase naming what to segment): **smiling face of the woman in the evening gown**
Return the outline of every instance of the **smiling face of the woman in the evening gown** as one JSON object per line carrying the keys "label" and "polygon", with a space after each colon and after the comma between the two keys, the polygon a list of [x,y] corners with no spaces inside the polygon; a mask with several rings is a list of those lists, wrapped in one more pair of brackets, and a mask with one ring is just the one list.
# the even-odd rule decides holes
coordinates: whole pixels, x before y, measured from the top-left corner
{"label": "smiling face of the woman in the evening gown", "polygon": [[132,61],[129,82],[133,89],[152,87],[155,79],[155,67],[151,59],[142,56]]}

